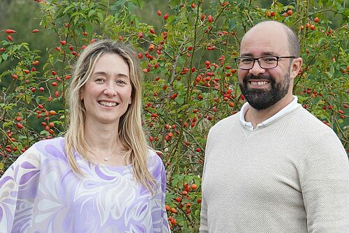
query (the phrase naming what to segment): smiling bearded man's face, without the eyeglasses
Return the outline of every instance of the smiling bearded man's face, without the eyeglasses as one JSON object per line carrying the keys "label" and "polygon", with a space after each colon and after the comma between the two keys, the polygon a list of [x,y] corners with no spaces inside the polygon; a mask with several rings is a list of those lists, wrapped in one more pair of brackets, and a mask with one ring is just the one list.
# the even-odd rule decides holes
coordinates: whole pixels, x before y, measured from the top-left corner
{"label": "smiling bearded man's face, without the eyeglasses", "polygon": [[[240,56],[290,56],[288,38],[282,28],[263,25],[248,31],[241,44]],[[248,103],[265,110],[286,95],[292,96],[290,64],[292,59],[279,59],[275,68],[264,69],[255,61],[250,70],[239,69],[239,86]]]}

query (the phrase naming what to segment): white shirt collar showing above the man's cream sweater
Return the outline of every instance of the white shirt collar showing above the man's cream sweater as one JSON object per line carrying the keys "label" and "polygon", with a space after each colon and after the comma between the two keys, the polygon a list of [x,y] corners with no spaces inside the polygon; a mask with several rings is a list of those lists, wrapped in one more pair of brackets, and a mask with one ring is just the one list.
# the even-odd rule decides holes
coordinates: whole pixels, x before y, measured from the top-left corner
{"label": "white shirt collar showing above the man's cream sweater", "polygon": [[275,119],[278,119],[279,117],[282,117],[283,115],[287,114],[288,112],[291,112],[292,110],[295,110],[295,108],[299,107],[300,104],[297,103],[297,101],[298,101],[297,96],[293,96],[293,100],[291,103],[286,105],[282,110],[280,110],[279,112],[274,114],[272,117],[269,117],[268,119],[266,119],[262,123],[258,123],[257,127],[255,127],[255,128],[253,128],[253,125],[251,122],[245,121],[246,111],[248,110],[248,107],[250,107],[250,105],[246,102],[246,103],[244,103],[244,105],[242,105],[242,108],[240,110],[240,121],[244,126],[246,126],[246,128],[248,128],[248,130],[251,130],[251,131],[256,130],[258,128],[262,128],[262,127],[266,126],[267,123],[274,121]]}

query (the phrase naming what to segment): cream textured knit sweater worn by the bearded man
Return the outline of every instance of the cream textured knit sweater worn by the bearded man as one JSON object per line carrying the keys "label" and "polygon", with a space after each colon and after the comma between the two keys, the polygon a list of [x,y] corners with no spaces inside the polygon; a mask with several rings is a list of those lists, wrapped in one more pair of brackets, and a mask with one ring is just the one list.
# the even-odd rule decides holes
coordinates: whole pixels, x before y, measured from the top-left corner
{"label": "cream textured knit sweater worn by the bearded man", "polygon": [[334,131],[297,107],[247,130],[209,131],[200,232],[349,232],[349,163]]}

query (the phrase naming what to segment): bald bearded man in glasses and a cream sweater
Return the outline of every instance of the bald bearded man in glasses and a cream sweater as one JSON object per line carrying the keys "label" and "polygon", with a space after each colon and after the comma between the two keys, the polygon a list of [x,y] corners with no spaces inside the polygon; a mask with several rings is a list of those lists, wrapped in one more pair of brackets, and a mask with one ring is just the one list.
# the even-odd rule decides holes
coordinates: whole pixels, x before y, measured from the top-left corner
{"label": "bald bearded man in glasses and a cream sweater", "polygon": [[346,151],[292,96],[297,36],[259,23],[235,60],[248,103],[209,132],[200,232],[348,232]]}

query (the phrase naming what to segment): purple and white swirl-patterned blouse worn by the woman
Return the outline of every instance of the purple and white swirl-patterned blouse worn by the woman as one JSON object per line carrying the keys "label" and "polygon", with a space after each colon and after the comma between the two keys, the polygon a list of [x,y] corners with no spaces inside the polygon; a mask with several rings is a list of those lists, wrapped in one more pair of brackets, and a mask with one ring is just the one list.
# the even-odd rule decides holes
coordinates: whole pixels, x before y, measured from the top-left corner
{"label": "purple and white swirl-patterned blouse worn by the woman", "polygon": [[76,176],[64,137],[31,146],[0,179],[0,232],[170,232],[165,168],[149,151],[156,195],[135,182],[132,165],[95,165],[75,154]]}

